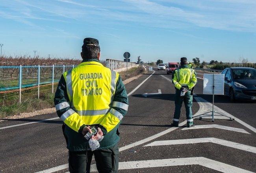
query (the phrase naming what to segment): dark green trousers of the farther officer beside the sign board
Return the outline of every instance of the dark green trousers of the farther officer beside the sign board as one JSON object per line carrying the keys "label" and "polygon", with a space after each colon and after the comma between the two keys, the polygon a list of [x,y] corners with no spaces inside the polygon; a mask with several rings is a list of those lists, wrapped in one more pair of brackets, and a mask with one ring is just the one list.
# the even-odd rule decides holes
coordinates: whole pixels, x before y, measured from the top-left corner
{"label": "dark green trousers of the farther officer beside the sign board", "polygon": [[180,90],[176,89],[175,93],[175,111],[173,117],[173,124],[178,125],[180,119],[180,109],[182,107],[182,102],[184,101],[184,105],[186,108],[186,116],[187,116],[187,124],[193,125],[193,118],[192,118],[192,103],[193,103],[193,96],[191,95],[191,90],[188,90],[183,98],[180,97]]}

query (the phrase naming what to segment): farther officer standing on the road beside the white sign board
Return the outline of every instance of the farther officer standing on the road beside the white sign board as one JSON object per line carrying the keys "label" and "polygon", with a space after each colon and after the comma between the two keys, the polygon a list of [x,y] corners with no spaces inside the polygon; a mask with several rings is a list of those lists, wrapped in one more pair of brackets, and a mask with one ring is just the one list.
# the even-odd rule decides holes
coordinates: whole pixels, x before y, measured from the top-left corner
{"label": "farther officer standing on the road beside the white sign board", "polygon": [[[187,127],[193,126],[192,118],[192,102],[193,102],[193,93],[191,92],[192,88],[197,84],[197,76],[195,70],[187,66],[187,58],[182,57],[180,59],[180,68],[174,70],[172,80],[173,85],[175,86],[175,112],[173,117],[173,123],[171,126],[178,127],[180,119],[180,109],[182,102],[184,101],[186,108],[187,116]],[[187,91],[184,96],[181,97],[181,91]]]}

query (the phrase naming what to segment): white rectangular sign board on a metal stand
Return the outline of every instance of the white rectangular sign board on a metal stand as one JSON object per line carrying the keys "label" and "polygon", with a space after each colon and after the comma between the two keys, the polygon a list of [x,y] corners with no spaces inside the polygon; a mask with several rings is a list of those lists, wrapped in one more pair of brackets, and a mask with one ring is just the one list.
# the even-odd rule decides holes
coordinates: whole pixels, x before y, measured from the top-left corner
{"label": "white rectangular sign board on a metal stand", "polygon": [[204,74],[203,94],[224,95],[224,74],[214,74],[214,91],[213,74]]}

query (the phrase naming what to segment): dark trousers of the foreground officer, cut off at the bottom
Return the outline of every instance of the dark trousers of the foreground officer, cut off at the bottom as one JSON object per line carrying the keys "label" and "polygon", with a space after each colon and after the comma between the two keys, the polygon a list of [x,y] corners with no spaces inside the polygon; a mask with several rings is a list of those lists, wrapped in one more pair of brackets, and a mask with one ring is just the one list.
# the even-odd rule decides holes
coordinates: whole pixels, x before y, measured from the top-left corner
{"label": "dark trousers of the foreground officer, cut off at the bottom", "polygon": [[117,173],[119,160],[118,144],[108,149],[95,151],[69,151],[70,173],[89,173],[93,155],[99,173]]}

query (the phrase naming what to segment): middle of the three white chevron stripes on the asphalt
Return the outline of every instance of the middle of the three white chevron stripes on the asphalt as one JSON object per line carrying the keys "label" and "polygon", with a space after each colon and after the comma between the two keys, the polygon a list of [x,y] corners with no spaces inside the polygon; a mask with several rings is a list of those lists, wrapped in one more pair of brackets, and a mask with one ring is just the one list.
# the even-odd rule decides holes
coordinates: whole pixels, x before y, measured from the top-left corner
{"label": "middle of the three white chevron stripes on the asphalt", "polygon": [[211,142],[211,143],[223,145],[226,147],[232,147],[232,148],[240,149],[243,151],[248,151],[251,153],[256,153],[256,147],[239,144],[236,142],[218,139],[218,138],[193,138],[193,139],[154,141],[150,144],[144,145],[143,147],[161,146],[161,145],[198,144],[198,143],[206,143],[206,142]]}

